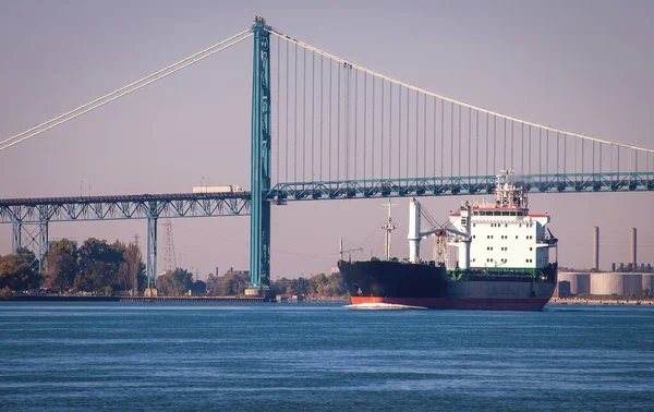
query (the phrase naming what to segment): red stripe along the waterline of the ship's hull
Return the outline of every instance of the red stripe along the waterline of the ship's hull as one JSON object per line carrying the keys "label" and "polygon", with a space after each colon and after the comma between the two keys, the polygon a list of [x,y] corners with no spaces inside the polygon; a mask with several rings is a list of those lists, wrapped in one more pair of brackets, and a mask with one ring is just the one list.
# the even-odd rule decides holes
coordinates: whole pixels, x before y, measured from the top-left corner
{"label": "red stripe along the waterline of the ship's hull", "polygon": [[436,310],[541,311],[549,299],[451,299],[451,298],[374,298],[352,296],[352,304],[390,303]]}

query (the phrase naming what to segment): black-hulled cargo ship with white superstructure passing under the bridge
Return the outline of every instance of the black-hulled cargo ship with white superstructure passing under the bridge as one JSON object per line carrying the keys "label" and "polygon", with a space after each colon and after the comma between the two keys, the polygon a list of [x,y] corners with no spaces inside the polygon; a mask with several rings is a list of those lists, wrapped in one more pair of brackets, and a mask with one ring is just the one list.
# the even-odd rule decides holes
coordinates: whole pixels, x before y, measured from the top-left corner
{"label": "black-hulled cargo ship with white superstructure passing under the bridge", "polygon": [[[411,198],[410,256],[402,260],[391,257],[390,233],[396,226],[389,203],[382,227],[386,259],[344,260],[342,253],[339,258],[351,307],[541,311],[557,281],[558,240],[547,229],[548,215],[530,213],[526,191],[511,181],[512,172],[502,170],[496,177],[494,203],[464,202],[444,226]],[[429,223],[424,231],[423,217]],[[431,237],[433,256],[423,260],[421,241]]]}

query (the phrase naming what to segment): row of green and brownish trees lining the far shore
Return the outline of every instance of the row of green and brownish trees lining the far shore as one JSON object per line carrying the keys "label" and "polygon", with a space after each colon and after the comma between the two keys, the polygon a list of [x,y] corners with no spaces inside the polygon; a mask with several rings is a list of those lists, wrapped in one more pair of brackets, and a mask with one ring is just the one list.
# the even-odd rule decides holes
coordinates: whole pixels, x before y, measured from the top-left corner
{"label": "row of green and brownish trees lining the far shore", "polygon": [[[0,256],[0,298],[39,288],[60,294],[84,292],[110,296],[143,292],[147,287],[143,255],[134,243],[108,243],[89,238],[77,246],[75,242],[62,239],[52,243],[45,259],[48,269],[39,274],[37,268],[41,263],[26,249]],[[247,271],[228,271],[223,276],[209,274],[204,282],[193,279],[189,270],[177,268],[158,276],[156,287],[157,293],[164,296],[179,296],[189,291],[193,295],[229,296],[244,294],[249,284]],[[283,277],[270,283],[270,291],[326,298],[347,294],[338,272],[296,279]]]}

